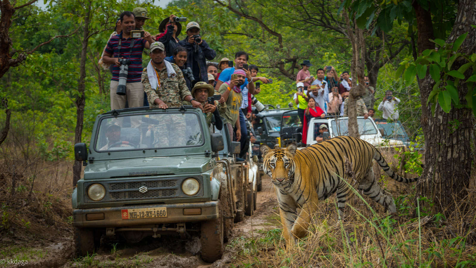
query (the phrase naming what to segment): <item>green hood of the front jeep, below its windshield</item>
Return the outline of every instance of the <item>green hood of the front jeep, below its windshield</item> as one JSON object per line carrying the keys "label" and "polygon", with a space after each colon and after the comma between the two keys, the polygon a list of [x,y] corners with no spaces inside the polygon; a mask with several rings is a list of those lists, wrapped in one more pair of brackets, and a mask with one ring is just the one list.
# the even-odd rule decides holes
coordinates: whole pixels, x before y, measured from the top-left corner
{"label": "green hood of the front jeep, below its windshield", "polygon": [[84,179],[203,173],[211,167],[210,160],[210,157],[204,156],[164,156],[99,160],[85,167]]}

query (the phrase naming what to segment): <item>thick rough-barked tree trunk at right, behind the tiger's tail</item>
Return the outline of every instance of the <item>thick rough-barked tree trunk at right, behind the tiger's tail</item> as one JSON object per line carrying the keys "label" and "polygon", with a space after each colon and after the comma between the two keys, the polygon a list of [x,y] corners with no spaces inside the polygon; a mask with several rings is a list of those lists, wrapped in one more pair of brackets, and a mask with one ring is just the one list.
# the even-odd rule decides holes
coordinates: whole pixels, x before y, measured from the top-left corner
{"label": "thick rough-barked tree trunk at right, behind the tiger's tail", "polygon": [[[435,45],[428,41],[433,37],[431,17],[428,11],[414,4],[417,14],[418,27],[418,53],[425,49],[433,49]],[[428,20],[428,18],[430,18]],[[462,0],[458,4],[458,13],[455,25],[446,42],[453,42],[465,32],[469,32],[460,51],[475,53],[475,31],[471,24],[476,24],[476,4],[474,0]],[[452,66],[458,69],[466,63],[459,57]],[[465,73],[465,77],[471,71]],[[421,125],[425,134],[425,168],[417,184],[419,196],[425,196],[434,202],[432,209],[435,213],[450,216],[453,212],[460,211],[459,201],[467,196],[466,187],[469,185],[471,170],[470,140],[472,131],[472,111],[467,108],[456,109],[451,107],[449,113],[443,112],[436,104],[435,116],[431,114],[431,103],[426,105],[428,95],[433,90],[435,81],[427,73],[419,81],[420,101],[422,104]],[[459,102],[466,104],[465,95],[467,87],[461,80],[457,86]],[[464,203],[464,202],[463,202]],[[465,208],[462,208],[465,209]]]}

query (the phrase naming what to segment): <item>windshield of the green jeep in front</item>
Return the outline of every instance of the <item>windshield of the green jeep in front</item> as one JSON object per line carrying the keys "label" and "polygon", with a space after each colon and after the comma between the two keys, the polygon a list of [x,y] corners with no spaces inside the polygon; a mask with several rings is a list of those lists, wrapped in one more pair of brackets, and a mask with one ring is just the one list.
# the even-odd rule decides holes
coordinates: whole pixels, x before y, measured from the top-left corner
{"label": "windshield of the green jeep in front", "polygon": [[204,142],[197,113],[135,113],[104,117],[96,132],[95,150],[197,147]]}

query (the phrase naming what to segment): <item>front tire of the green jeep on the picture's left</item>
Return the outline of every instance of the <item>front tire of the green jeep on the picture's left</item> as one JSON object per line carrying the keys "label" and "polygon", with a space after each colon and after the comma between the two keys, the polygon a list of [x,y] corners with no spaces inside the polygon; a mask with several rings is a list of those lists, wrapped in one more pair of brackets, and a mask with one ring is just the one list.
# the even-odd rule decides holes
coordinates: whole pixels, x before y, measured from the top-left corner
{"label": "front tire of the green jeep on the picture's left", "polygon": [[100,246],[101,235],[94,229],[75,228],[74,254],[78,257],[91,256]]}

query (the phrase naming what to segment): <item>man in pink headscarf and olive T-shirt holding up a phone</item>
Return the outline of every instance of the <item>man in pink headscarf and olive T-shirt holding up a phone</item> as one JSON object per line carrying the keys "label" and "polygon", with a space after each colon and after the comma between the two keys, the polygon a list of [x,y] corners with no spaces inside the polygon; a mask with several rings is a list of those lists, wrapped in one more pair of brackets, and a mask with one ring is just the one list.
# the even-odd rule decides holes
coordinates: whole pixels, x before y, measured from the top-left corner
{"label": "man in pink headscarf and olive T-shirt holding up a phone", "polygon": [[[248,70],[247,72],[245,72],[244,70],[238,69],[235,70],[233,74],[237,74],[238,79],[222,83],[218,92],[221,94],[221,96],[225,99],[225,102],[227,103],[227,111],[223,114],[223,118],[225,118],[225,121],[227,123],[230,140],[234,141],[233,127],[235,126],[237,129],[235,132],[236,140],[240,141],[241,126],[239,122],[239,112],[241,100],[243,98],[240,86],[245,82],[247,78],[251,81],[251,73]],[[253,83],[250,83],[250,91],[251,90],[255,90],[255,86],[253,85]],[[245,137],[243,137],[243,139],[245,139]]]}

